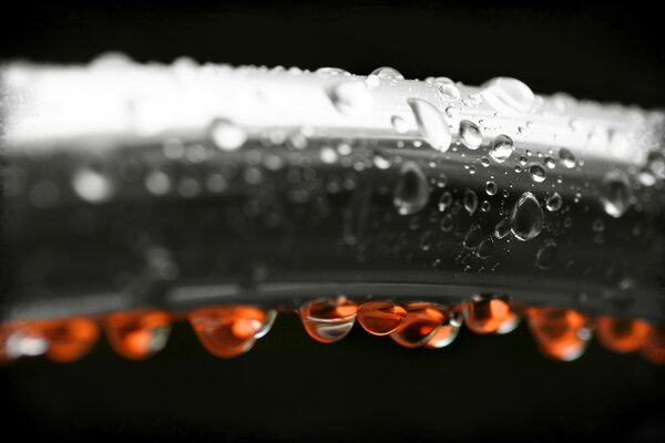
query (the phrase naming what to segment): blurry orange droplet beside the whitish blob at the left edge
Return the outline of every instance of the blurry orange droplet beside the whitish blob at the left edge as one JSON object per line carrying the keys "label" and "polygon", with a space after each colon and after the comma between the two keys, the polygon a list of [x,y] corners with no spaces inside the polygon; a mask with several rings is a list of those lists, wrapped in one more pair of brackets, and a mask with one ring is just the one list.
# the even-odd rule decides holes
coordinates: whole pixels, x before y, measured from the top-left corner
{"label": "blurry orange droplet beside the whitish blob at the left edge", "polygon": [[84,317],[35,324],[49,340],[47,357],[61,363],[83,357],[100,336],[96,322]]}

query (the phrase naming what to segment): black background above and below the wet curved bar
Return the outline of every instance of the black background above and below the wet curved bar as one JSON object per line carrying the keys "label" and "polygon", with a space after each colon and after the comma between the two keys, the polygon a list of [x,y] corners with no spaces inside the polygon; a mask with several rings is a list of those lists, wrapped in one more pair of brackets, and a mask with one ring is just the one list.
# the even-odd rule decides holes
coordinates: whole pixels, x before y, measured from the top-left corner
{"label": "black background above and below the wet curved bar", "polygon": [[[661,14],[638,2],[444,4],[59,1],[2,14],[0,60],[380,65],[470,84],[515,76],[534,91],[658,107],[665,103]],[[406,350],[358,327],[309,339],[293,315],[248,354],[208,356],[185,326],[144,362],[102,340],[72,364],[0,368],[3,437],[245,441],[665,441],[665,370],[593,342],[573,363],[542,357],[524,326],[463,331],[449,349]]]}

